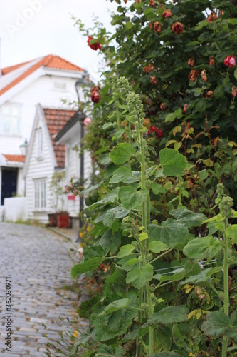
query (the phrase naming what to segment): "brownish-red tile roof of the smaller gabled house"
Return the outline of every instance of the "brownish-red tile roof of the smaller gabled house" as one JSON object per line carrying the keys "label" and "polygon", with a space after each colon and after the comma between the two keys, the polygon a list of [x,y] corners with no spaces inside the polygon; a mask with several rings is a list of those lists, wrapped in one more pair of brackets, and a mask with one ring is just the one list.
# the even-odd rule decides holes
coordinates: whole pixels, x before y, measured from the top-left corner
{"label": "brownish-red tile roof of the smaller gabled house", "polygon": [[43,109],[43,112],[46,117],[48,132],[51,136],[58,167],[63,168],[65,166],[65,145],[57,145],[53,139],[77,111],[68,109]]}

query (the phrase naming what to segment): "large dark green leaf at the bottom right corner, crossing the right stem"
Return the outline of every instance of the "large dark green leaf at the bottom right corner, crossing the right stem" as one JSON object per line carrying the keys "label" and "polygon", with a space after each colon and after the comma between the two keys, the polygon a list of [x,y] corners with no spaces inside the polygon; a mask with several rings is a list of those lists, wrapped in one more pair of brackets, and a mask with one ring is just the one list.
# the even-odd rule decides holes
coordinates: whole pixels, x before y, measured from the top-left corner
{"label": "large dark green leaf at the bottom right corner, crossing the right stem", "polygon": [[211,337],[225,335],[237,342],[237,311],[234,311],[230,318],[221,311],[211,311],[202,327]]}

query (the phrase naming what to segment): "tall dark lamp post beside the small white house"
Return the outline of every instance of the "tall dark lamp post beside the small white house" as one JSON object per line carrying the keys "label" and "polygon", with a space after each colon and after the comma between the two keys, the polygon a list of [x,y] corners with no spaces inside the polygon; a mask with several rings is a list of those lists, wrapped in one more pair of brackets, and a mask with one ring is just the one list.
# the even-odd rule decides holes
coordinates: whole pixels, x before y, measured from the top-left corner
{"label": "tall dark lamp post beside the small white house", "polygon": [[[80,110],[81,107],[81,102],[80,102],[80,94],[79,94],[79,89],[82,84],[85,84],[85,77],[87,75],[87,72],[85,71],[82,78],[78,79],[78,81],[75,82],[75,91],[77,92],[78,96],[78,120],[80,122],[80,186],[83,186],[84,184],[84,153],[83,153],[83,138],[84,138],[84,120],[85,120],[85,113]],[[83,214],[83,209],[84,209],[84,199],[83,196],[80,196],[79,198],[79,227],[78,227],[78,238],[76,239],[76,243],[80,241],[80,230],[83,228],[83,220],[82,220],[82,214]]]}

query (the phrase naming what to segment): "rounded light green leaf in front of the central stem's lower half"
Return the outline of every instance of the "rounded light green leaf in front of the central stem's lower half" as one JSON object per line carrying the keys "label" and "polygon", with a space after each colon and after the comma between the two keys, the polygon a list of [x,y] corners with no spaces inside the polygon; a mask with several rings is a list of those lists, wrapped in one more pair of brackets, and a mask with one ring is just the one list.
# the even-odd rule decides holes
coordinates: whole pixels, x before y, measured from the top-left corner
{"label": "rounded light green leaf in front of the central stem's lower half", "polygon": [[153,277],[153,266],[151,264],[147,264],[146,266],[142,266],[141,269],[135,268],[129,273],[127,273],[126,282],[127,284],[132,283],[135,288],[139,289],[145,285],[148,281],[152,280]]}

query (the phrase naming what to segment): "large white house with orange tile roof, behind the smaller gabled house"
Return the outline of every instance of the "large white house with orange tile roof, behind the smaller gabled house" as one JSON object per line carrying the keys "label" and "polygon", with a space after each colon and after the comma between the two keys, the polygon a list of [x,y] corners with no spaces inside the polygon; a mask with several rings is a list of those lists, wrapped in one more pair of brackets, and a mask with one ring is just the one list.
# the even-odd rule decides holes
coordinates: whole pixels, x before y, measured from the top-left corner
{"label": "large white house with orange tile roof, behind the smaller gabled house", "polygon": [[[25,158],[20,146],[26,139],[30,141],[37,104],[60,109],[61,99],[77,101],[75,82],[83,78],[85,71],[51,54],[1,69],[0,74],[0,205],[3,205],[4,198],[14,194],[23,196],[28,189],[33,194],[32,186],[28,188],[23,180]],[[39,112],[38,108],[37,116],[42,117]],[[30,149],[33,150],[33,144],[28,151]],[[37,162],[41,172],[46,161]],[[56,162],[54,164],[58,167]]]}

